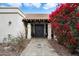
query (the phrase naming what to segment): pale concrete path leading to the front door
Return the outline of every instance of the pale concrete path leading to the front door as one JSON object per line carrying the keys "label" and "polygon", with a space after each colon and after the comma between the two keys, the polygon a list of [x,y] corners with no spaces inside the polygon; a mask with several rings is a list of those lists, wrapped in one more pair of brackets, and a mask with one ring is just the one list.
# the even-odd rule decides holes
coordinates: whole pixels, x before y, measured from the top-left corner
{"label": "pale concrete path leading to the front door", "polygon": [[32,39],[21,56],[58,56],[47,39]]}

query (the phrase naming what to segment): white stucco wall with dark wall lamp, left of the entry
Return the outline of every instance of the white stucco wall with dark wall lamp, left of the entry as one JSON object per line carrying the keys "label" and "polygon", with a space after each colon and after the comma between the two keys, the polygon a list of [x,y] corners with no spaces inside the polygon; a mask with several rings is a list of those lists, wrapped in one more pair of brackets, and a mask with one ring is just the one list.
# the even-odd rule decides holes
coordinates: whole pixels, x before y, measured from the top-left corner
{"label": "white stucco wall with dark wall lamp, left of the entry", "polygon": [[[25,34],[23,18],[18,13],[0,13],[0,42],[3,42],[3,39],[7,38],[8,34],[14,37],[18,36],[20,32]],[[11,25],[9,25],[9,21],[11,21]]]}

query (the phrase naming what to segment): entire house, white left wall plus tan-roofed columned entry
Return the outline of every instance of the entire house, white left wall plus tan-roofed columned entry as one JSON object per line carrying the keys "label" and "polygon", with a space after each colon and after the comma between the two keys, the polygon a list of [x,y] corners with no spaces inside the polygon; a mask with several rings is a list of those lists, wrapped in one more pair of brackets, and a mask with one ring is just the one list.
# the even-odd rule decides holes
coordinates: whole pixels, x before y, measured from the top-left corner
{"label": "entire house, white left wall plus tan-roofed columned entry", "polygon": [[24,14],[16,7],[0,7],[0,42],[19,33],[27,39],[51,39],[51,30],[48,14]]}

